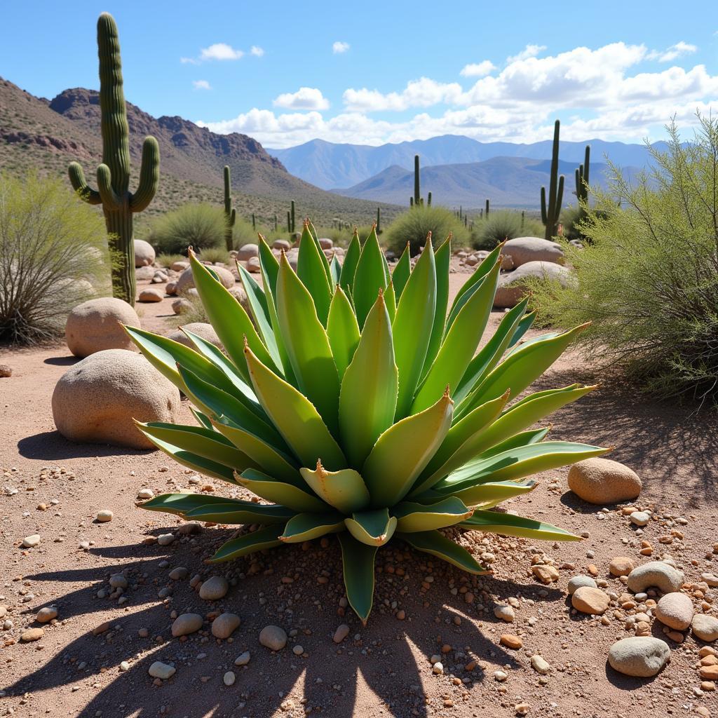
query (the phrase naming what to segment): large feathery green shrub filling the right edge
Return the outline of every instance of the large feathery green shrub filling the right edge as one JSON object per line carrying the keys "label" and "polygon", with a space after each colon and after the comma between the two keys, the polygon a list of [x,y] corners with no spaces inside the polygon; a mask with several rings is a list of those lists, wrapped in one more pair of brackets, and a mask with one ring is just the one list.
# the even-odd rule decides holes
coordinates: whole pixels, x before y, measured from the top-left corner
{"label": "large feathery green shrub filling the right edge", "polygon": [[[573,286],[533,287],[544,323],[591,321],[588,355],[619,363],[661,396],[718,397],[718,120],[701,118],[694,142],[649,146],[652,169],[607,192],[580,225],[591,245],[567,247]],[[620,200],[620,207],[617,206]]]}

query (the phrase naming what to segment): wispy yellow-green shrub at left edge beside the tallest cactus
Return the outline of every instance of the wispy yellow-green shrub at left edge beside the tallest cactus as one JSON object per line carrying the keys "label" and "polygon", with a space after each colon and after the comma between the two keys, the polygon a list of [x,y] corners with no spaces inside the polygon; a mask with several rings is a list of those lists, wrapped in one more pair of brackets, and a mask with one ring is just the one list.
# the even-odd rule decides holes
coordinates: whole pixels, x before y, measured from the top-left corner
{"label": "wispy yellow-green shrub at left edge beside the tallest cactus", "polygon": [[0,340],[62,333],[70,309],[108,289],[102,216],[60,179],[0,175]]}

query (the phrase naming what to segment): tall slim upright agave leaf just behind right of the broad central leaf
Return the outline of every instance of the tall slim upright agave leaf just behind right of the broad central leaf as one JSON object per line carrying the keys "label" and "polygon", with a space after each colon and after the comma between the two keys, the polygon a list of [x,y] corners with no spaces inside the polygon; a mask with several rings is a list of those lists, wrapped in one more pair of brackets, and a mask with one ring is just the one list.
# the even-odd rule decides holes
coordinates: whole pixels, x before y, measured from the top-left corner
{"label": "tall slim upright agave leaf just behind right of the broad central leaf", "polygon": [[429,239],[406,282],[391,325],[399,381],[397,420],[409,414],[432,337],[436,309],[437,271],[432,241]]}

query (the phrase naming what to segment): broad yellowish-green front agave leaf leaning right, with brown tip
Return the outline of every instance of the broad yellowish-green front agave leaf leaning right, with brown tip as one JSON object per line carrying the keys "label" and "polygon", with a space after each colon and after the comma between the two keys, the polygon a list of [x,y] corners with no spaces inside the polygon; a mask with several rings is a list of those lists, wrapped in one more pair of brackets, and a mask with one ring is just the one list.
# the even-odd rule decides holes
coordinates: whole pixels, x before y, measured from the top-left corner
{"label": "broad yellowish-green front agave leaf leaning right, with brown tip", "polygon": [[381,434],[361,471],[372,505],[393,506],[406,496],[449,431],[453,406],[444,393],[434,406]]}

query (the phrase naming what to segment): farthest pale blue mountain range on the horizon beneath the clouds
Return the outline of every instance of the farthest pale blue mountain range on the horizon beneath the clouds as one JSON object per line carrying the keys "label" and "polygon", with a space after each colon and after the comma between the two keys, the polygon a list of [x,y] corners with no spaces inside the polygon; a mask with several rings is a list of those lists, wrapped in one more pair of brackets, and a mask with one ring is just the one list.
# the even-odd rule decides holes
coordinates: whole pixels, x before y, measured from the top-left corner
{"label": "farthest pale blue mountain range on the horizon beneath the clouds", "polygon": [[[438,164],[464,164],[484,162],[493,157],[524,157],[527,159],[550,159],[551,140],[532,144],[512,142],[479,142],[460,135],[444,135],[427,140],[414,140],[378,147],[362,144],[332,144],[313,139],[287,149],[267,149],[279,159],[284,167],[325,190],[337,187],[353,187],[384,169],[396,164],[404,169],[414,167],[414,155],[421,158],[421,166]],[[584,142],[561,141],[561,159],[573,162],[574,167],[583,162],[585,146],[591,145],[593,162],[605,162],[607,156],[621,167],[643,167],[648,162],[648,150],[642,144],[606,142],[590,139]],[[656,146],[664,148],[664,142]],[[571,169],[573,174],[574,167]]]}

